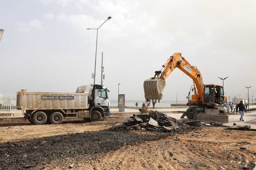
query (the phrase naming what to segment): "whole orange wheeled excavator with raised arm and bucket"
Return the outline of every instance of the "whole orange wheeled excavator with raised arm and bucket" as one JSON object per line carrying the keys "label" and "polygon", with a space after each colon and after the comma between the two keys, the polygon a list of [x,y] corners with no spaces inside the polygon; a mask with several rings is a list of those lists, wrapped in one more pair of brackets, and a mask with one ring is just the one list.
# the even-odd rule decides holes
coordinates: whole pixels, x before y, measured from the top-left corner
{"label": "whole orange wheeled excavator with raised arm and bucket", "polygon": [[[220,123],[228,122],[228,115],[225,114],[227,97],[224,95],[223,87],[215,84],[204,84],[203,78],[197,67],[191,65],[181,53],[176,52],[162,65],[160,71],[155,71],[155,76],[144,81],[144,94],[147,102],[150,100],[160,102],[163,98],[165,80],[174,71],[180,69],[193,80],[187,99],[189,109],[181,116],[189,119],[215,121]],[[190,93],[194,94],[190,95]],[[221,108],[222,107],[222,108]]]}

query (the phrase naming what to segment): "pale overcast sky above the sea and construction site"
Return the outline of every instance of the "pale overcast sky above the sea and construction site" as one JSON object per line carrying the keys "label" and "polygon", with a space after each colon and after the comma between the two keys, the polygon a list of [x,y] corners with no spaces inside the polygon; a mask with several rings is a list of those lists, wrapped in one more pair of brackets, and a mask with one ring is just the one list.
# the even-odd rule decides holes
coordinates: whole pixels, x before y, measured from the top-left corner
{"label": "pale overcast sky above the sea and construction site", "polygon": [[[224,81],[227,96],[256,97],[256,1],[1,1],[0,92],[75,92],[96,83],[104,53],[110,99],[144,100],[143,82],[174,53]],[[192,80],[179,69],[166,80],[164,100],[186,100]]]}

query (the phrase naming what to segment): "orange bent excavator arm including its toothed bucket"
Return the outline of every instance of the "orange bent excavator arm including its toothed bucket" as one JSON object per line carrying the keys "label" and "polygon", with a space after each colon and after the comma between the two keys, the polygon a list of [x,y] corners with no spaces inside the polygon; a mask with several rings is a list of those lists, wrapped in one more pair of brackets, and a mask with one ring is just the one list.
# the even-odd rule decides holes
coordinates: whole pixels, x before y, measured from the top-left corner
{"label": "orange bent excavator arm including its toothed bucket", "polygon": [[195,83],[195,95],[198,101],[203,99],[203,90],[204,84],[200,71],[192,66],[184,57],[181,56],[181,53],[174,53],[170,58],[162,65],[160,71],[155,71],[155,76],[144,81],[144,94],[146,101],[150,100],[159,100],[163,97],[163,90],[165,87],[165,80],[168,76],[174,71],[174,69],[180,69],[192,78]]}

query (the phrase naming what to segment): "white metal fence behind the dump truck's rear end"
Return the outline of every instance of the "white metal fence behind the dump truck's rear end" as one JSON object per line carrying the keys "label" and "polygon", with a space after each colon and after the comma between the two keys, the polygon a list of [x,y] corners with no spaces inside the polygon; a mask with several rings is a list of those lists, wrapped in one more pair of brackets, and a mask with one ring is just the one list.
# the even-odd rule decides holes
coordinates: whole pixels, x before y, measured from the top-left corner
{"label": "white metal fence behind the dump truck's rear end", "polygon": [[20,113],[16,109],[16,94],[0,93],[0,113]]}

